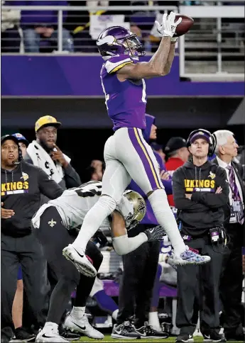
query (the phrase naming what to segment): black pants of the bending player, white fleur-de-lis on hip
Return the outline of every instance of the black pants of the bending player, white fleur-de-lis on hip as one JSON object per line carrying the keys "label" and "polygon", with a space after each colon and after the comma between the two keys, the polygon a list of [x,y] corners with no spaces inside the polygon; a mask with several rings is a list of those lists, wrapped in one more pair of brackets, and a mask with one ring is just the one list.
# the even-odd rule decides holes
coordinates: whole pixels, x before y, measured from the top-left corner
{"label": "black pants of the bending player, white fleur-de-lis on hip", "polygon": [[[47,321],[59,324],[72,291],[77,287],[75,306],[84,307],[95,278],[80,274],[75,266],[62,256],[62,249],[74,242],[76,235],[72,235],[72,231],[68,231],[62,224],[62,218],[55,207],[47,208],[41,215],[40,228],[36,230],[36,235],[43,245],[53,278],[57,281],[50,297]],[[102,253],[89,241],[86,254],[92,259],[94,268],[98,271],[103,260]]]}

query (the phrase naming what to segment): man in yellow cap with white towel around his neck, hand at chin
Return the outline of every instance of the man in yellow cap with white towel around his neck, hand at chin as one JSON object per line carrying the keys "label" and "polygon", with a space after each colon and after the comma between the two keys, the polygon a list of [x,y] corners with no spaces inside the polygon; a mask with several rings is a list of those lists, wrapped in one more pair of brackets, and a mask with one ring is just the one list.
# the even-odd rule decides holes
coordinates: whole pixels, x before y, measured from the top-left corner
{"label": "man in yellow cap with white towel around his neck, hand at chin", "polygon": [[70,158],[56,145],[61,123],[52,116],[40,117],[35,124],[36,140],[28,145],[26,161],[45,171],[62,189],[80,186],[80,176],[70,165]]}

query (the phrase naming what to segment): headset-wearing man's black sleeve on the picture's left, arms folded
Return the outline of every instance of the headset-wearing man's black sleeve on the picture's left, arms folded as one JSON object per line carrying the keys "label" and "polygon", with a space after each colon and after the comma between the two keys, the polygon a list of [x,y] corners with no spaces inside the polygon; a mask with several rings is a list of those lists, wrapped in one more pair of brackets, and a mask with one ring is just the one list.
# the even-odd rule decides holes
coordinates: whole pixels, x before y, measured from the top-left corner
{"label": "headset-wearing man's black sleeve on the picture's left, arms folded", "polygon": [[175,208],[185,210],[186,212],[203,212],[207,210],[208,207],[202,203],[196,203],[185,198],[184,175],[181,168],[178,168],[173,173],[173,200],[175,202]]}

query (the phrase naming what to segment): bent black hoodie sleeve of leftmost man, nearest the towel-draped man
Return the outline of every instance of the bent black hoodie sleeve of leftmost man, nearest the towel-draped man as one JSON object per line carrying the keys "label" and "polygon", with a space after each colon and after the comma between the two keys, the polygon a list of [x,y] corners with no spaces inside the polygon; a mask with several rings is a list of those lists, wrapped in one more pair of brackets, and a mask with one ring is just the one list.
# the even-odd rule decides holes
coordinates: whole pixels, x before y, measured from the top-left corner
{"label": "bent black hoodie sleeve of leftmost man, nearest the towel-draped man", "polygon": [[48,174],[38,168],[38,186],[40,193],[50,199],[56,199],[63,193],[63,189],[53,180],[49,179]]}

